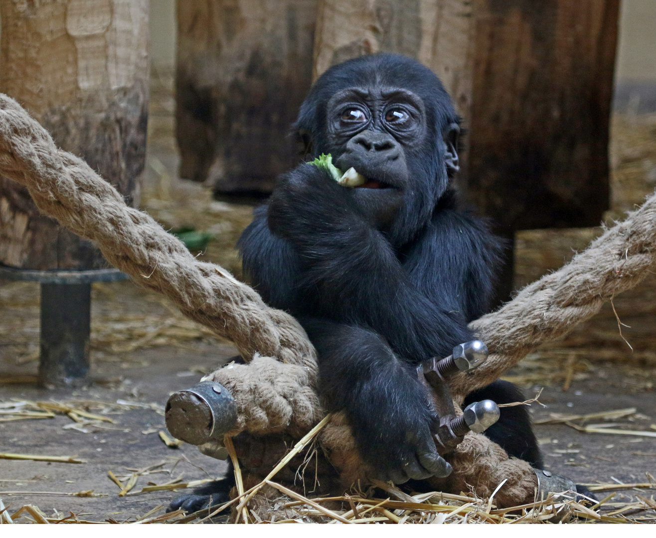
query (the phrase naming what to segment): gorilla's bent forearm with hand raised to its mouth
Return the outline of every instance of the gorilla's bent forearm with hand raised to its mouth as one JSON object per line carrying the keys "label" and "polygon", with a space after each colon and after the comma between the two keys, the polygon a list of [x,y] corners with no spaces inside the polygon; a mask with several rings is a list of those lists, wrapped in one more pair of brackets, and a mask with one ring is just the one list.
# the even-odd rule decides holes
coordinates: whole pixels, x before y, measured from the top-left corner
{"label": "gorilla's bent forearm with hand raised to its mouth", "polygon": [[464,317],[417,289],[388,240],[365,221],[350,189],[325,170],[304,164],[283,176],[268,223],[305,262],[300,286],[318,295],[321,315],[373,328],[413,362],[449,355],[471,339]]}

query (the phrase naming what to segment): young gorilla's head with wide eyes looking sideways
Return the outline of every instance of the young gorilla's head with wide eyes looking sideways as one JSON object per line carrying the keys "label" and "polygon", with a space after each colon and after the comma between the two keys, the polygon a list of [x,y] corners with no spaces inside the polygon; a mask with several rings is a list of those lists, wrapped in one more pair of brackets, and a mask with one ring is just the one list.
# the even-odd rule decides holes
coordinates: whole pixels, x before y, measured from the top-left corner
{"label": "young gorilla's head with wide eyes looking sideways", "polygon": [[353,197],[396,244],[430,218],[458,170],[459,117],[440,79],[416,60],[376,54],[328,69],[296,123],[308,153],[331,153],[367,178]]}

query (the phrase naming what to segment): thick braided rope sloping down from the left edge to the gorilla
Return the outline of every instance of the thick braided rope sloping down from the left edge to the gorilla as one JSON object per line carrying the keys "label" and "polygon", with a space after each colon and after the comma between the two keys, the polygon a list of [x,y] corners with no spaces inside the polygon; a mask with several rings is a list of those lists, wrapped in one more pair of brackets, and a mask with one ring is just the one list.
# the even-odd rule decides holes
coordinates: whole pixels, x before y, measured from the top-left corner
{"label": "thick braided rope sloping down from the left edge to the gorilla", "polygon": [[16,101],[0,94],[0,173],[27,187],[39,210],[98,245],[112,265],[173,299],[182,313],[255,353],[307,368],[316,351],[295,318],[268,307],[230,273],[202,263],[148,214],[84,161],[58,150],[48,132]]}

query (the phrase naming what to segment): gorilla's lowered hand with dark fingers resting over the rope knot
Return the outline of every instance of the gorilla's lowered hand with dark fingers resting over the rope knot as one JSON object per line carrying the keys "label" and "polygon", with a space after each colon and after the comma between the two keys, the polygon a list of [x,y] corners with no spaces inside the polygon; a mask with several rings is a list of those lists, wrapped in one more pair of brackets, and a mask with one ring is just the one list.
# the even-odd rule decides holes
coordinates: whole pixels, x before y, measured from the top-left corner
{"label": "gorilla's lowered hand with dark fingers resting over the rope knot", "polygon": [[377,434],[363,434],[355,425],[361,457],[374,467],[379,480],[403,484],[410,478],[424,480],[451,474],[451,465],[438,454],[430,429],[415,427],[382,421],[376,425]]}

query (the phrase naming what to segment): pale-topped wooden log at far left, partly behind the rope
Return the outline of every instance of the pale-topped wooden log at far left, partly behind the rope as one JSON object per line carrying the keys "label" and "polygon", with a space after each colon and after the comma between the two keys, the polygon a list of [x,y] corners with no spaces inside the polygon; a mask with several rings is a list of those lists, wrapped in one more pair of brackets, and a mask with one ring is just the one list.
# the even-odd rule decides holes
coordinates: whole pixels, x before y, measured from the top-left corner
{"label": "pale-topped wooden log at far left, partly behind the rope", "polygon": [[[0,16],[0,92],[136,204],[146,155],[148,1],[2,0]],[[94,269],[104,260],[0,176],[0,263]]]}

